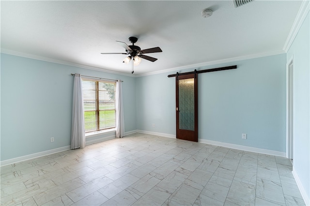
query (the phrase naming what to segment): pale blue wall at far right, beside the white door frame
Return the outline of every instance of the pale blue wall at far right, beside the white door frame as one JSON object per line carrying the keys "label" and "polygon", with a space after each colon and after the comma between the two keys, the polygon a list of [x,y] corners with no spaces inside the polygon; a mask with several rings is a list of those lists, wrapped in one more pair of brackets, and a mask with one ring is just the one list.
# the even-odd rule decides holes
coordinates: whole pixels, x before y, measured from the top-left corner
{"label": "pale blue wall at far right, beside the white door frame", "polygon": [[287,52],[293,60],[293,166],[310,198],[310,17],[309,13]]}

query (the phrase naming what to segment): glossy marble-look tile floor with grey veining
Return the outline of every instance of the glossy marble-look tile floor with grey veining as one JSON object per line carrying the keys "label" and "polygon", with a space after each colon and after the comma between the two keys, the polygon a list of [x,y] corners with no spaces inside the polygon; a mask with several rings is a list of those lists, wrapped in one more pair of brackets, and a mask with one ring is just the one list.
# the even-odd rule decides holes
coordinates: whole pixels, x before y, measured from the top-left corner
{"label": "glossy marble-look tile floor with grey veining", "polygon": [[286,158],[142,133],[0,169],[3,206],[305,205]]}

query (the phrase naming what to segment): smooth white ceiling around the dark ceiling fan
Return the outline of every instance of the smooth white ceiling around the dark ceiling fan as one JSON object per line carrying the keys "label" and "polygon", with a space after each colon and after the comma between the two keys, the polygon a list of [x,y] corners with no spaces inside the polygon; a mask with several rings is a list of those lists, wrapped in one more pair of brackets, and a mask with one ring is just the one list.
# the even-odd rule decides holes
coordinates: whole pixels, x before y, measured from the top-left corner
{"label": "smooth white ceiling around the dark ceiling fan", "polygon": [[[136,75],[156,73],[223,59],[284,53],[283,46],[302,1],[254,0],[234,8],[222,1],[3,1],[1,52],[35,59],[55,59],[131,74],[125,52],[115,41],[130,45],[139,38],[147,54]],[[213,15],[202,17],[212,8]]]}

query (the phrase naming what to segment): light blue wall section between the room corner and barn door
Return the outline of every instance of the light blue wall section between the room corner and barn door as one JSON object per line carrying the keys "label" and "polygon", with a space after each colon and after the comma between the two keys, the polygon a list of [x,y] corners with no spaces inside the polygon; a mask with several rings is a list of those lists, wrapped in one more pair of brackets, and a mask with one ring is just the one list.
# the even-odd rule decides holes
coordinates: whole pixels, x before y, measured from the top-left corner
{"label": "light blue wall section between the room corner and barn door", "polygon": [[175,134],[175,81],[167,75],[137,78],[138,130]]}

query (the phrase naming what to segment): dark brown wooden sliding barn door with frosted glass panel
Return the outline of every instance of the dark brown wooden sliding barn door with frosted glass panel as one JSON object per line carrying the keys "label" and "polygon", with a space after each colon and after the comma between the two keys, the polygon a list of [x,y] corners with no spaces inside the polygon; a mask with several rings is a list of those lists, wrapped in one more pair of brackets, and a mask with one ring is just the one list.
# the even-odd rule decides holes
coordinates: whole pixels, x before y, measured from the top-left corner
{"label": "dark brown wooden sliding barn door with frosted glass panel", "polygon": [[176,138],[198,142],[197,74],[176,76]]}

